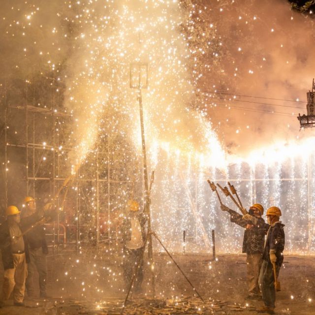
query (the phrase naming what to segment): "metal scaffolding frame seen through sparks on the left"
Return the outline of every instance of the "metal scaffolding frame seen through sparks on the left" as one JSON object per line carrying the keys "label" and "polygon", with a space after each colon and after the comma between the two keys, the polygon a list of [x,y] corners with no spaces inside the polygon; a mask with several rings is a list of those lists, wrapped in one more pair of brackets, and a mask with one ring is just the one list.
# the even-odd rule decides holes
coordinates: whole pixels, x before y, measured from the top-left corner
{"label": "metal scaffolding frame seen through sparks on the left", "polygon": [[[54,80],[53,80],[54,83]],[[28,86],[26,87],[26,89]],[[52,90],[56,90],[54,85],[52,86]],[[26,92],[27,94],[27,92]],[[63,134],[63,130],[61,130],[62,125],[60,124],[60,120],[63,119],[63,121],[66,121],[67,125],[71,124],[72,116],[68,113],[66,113],[64,110],[62,111],[61,108],[58,105],[58,102],[56,102],[55,93],[52,94],[52,101],[51,101],[51,108],[45,108],[45,107],[37,107],[28,104],[27,100],[25,100],[25,104],[23,106],[13,106],[9,104],[9,101],[7,99],[7,93],[6,90],[4,90],[4,97],[3,97],[3,104],[4,104],[4,132],[3,132],[3,139],[4,139],[4,200],[5,200],[5,207],[8,206],[8,178],[10,174],[10,168],[8,165],[10,164],[9,155],[12,154],[14,150],[19,150],[18,154],[21,154],[21,150],[24,150],[24,166],[25,170],[23,171],[23,175],[21,175],[21,179],[23,182],[25,182],[25,189],[24,191],[19,191],[19,196],[14,197],[14,203],[18,204],[20,201],[23,200],[24,195],[32,195],[33,197],[36,196],[36,184],[40,183],[37,186],[43,186],[47,185],[49,186],[49,194],[50,196],[55,196],[56,191],[61,187],[63,181],[65,180],[65,172],[64,170],[61,171],[61,168],[66,168],[68,171],[68,174],[70,174],[70,167],[69,165],[66,165],[68,163],[65,163],[64,159],[66,158],[66,153],[71,150],[69,147],[62,146],[64,141],[64,137],[61,136]],[[12,116],[10,115],[12,114]],[[20,141],[9,141],[8,140],[8,130],[9,130],[9,124],[12,121],[12,118],[16,119],[17,117],[24,117],[24,134],[23,134],[23,143]],[[38,118],[40,117],[40,118]],[[47,119],[48,118],[48,119]],[[36,120],[47,120],[47,124],[45,126],[46,131],[50,130],[50,136],[48,141],[50,140],[51,143],[39,143],[36,139],[38,138],[37,135],[40,132],[43,132],[41,129],[36,128]],[[48,142],[47,141],[47,142]],[[107,238],[106,244],[110,246],[111,243],[111,228],[110,228],[110,222],[112,217],[112,209],[111,209],[111,196],[110,196],[110,190],[111,185],[118,185],[121,184],[122,181],[118,180],[111,180],[110,179],[110,169],[111,169],[111,152],[110,152],[110,143],[109,143],[109,137],[106,136],[106,142],[107,142],[107,150],[106,151],[100,151],[98,150],[98,147],[92,152],[92,156],[94,154],[95,156],[95,174],[92,174],[94,176],[91,176],[92,178],[89,178],[90,176],[81,176],[82,172],[79,170],[77,172],[76,178],[73,182],[72,190],[75,190],[75,218],[74,218],[74,225],[75,225],[75,244],[76,244],[76,251],[78,252],[80,243],[81,243],[81,231],[82,231],[82,200],[86,197],[83,193],[83,186],[90,185],[91,187],[95,186],[95,195],[96,195],[96,202],[95,202],[95,241],[96,241],[96,248],[98,249],[99,243],[101,241],[100,239],[100,194],[106,195],[107,194],[107,200],[106,200],[106,208],[103,207],[103,209],[107,210],[107,226],[108,231],[105,235]],[[11,150],[12,152],[8,152],[8,150]],[[64,152],[64,158],[60,154],[61,152]],[[14,155],[15,153],[13,153]],[[39,154],[39,158],[38,158]],[[100,178],[99,175],[99,155],[102,154],[103,156],[106,156],[105,160],[103,160],[107,164],[107,174],[105,178]],[[43,175],[39,174],[39,170],[41,169],[43,165],[43,161],[47,160],[49,163],[46,163],[45,169],[49,169],[46,172],[46,174]],[[11,163],[12,164],[12,163]],[[48,165],[47,165],[48,164]],[[81,172],[81,173],[80,173]],[[49,175],[49,176],[47,176]],[[11,176],[11,175],[10,175]],[[125,184],[129,184],[129,181],[124,181]],[[47,184],[44,184],[47,183]],[[103,185],[100,185],[103,184]],[[93,189],[92,189],[93,190]],[[106,191],[104,191],[106,190]],[[12,199],[12,198],[11,198]],[[55,199],[51,198],[53,200],[55,207],[60,207],[59,198]],[[10,200],[10,202],[12,202]],[[86,200],[84,201],[86,207],[90,207],[89,202]],[[59,245],[61,245],[61,239],[60,239],[60,229],[61,226],[60,221],[60,212],[58,212],[58,216],[56,221],[53,223],[53,252],[58,253]],[[65,237],[63,237],[63,240]]]}

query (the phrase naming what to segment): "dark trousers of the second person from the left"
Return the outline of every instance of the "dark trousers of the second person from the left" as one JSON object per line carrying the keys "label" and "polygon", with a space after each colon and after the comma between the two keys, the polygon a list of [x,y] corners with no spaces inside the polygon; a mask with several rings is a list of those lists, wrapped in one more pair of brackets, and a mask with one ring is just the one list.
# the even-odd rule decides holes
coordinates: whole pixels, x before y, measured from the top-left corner
{"label": "dark trousers of the second person from the left", "polygon": [[30,262],[28,263],[28,277],[26,279],[26,289],[28,296],[33,296],[34,289],[34,274],[38,272],[39,292],[40,295],[46,295],[47,284],[47,262],[46,254],[43,253],[42,248],[30,249]]}

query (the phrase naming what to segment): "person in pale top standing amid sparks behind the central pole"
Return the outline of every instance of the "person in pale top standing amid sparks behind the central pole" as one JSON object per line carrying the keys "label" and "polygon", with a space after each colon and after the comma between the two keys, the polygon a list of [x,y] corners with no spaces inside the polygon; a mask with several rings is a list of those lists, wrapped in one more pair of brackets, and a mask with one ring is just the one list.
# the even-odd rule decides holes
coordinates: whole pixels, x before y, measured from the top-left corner
{"label": "person in pale top standing amid sparks behind the central pole", "polygon": [[147,221],[146,214],[139,213],[139,203],[130,199],[128,201],[128,213],[126,214],[122,226],[123,242],[124,242],[124,276],[126,290],[129,288],[132,276],[140,260],[138,275],[135,280],[135,292],[141,292],[141,284],[143,281],[143,251],[145,247],[146,231],[145,223]]}

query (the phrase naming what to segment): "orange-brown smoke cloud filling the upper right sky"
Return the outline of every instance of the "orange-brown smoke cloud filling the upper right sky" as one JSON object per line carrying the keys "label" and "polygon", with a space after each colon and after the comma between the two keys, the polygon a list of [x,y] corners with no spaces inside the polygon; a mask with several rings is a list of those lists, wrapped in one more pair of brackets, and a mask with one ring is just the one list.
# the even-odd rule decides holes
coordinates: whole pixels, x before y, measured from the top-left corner
{"label": "orange-brown smoke cloud filling the upper right sky", "polygon": [[[231,154],[244,157],[256,148],[309,137],[309,130],[299,131],[296,119],[306,112],[306,103],[284,99],[306,101],[312,87],[314,20],[292,11],[287,1],[220,2],[209,10],[205,23],[216,28],[221,40],[221,71],[215,66],[204,71],[200,84],[203,91],[226,93],[205,101],[219,138]],[[227,101],[230,98],[235,100]]]}

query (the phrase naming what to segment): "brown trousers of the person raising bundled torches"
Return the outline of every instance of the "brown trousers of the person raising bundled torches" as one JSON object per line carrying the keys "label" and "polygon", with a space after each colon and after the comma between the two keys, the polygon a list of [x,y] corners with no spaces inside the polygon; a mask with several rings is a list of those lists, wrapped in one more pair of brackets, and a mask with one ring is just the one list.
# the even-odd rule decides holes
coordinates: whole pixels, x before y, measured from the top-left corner
{"label": "brown trousers of the person raising bundled torches", "polygon": [[257,295],[260,293],[259,290],[259,273],[262,264],[262,254],[247,254],[247,287],[250,295]]}

